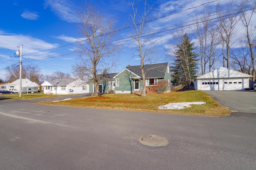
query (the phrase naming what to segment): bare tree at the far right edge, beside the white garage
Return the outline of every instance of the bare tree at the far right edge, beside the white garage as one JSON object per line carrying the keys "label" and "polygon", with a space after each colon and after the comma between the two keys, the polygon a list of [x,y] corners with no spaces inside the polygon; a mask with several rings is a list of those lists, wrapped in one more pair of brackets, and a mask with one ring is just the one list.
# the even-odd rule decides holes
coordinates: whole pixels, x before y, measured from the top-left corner
{"label": "bare tree at the far right edge, beside the white garage", "polygon": [[[250,2],[250,0],[244,0],[242,1],[241,3],[241,6],[244,6],[246,4],[248,4],[248,2]],[[252,81],[255,81],[255,63],[254,63],[254,50],[253,50],[253,47],[255,47],[255,45],[253,44],[253,40],[252,39],[255,39],[255,25],[253,25],[253,22],[252,22],[252,16],[255,12],[255,7],[256,5],[254,4],[253,7],[250,7],[252,8],[250,10],[250,13],[249,12],[241,12],[241,15],[240,15],[240,18],[242,20],[242,23],[244,25],[244,29],[245,29],[245,33],[244,33],[244,37],[246,37],[246,40],[247,40],[247,47],[250,49],[250,59],[251,59],[251,66],[252,66],[252,76],[253,76],[253,80]]]}

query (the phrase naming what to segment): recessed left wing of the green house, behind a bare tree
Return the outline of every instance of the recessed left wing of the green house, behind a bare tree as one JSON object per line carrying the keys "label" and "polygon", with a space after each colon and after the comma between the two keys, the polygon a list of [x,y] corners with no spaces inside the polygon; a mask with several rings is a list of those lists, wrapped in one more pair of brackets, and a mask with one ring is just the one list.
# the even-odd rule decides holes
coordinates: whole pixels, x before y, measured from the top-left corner
{"label": "recessed left wing of the green house, behind a bare tree", "polygon": [[[99,81],[100,93],[114,93],[116,82],[113,77],[116,76],[116,74],[118,73],[108,73],[102,76],[102,78]],[[90,82],[89,93],[94,93],[94,92],[95,92],[94,83]]]}

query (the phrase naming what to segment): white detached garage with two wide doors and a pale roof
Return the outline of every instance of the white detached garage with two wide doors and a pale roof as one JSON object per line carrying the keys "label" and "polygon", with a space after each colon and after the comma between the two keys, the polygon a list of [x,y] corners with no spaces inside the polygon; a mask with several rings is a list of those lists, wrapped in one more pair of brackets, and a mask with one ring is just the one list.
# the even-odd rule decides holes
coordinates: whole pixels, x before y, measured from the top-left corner
{"label": "white detached garage with two wide doors and a pale roof", "polygon": [[245,90],[249,88],[249,74],[220,67],[196,78],[195,90]]}

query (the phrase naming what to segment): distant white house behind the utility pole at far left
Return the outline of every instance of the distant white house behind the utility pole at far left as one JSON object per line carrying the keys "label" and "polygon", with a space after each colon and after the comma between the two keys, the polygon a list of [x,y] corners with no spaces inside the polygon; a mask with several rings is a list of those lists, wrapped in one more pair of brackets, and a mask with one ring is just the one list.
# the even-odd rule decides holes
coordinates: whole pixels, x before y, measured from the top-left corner
{"label": "distant white house behind the utility pole at far left", "polygon": [[[20,79],[15,80],[12,83],[6,83],[5,84],[6,89],[5,90],[9,90],[9,89],[16,89],[16,90],[20,90]],[[38,92],[38,88],[39,85],[36,84],[35,82],[32,82],[30,80],[28,80],[27,78],[21,79],[21,92]]]}

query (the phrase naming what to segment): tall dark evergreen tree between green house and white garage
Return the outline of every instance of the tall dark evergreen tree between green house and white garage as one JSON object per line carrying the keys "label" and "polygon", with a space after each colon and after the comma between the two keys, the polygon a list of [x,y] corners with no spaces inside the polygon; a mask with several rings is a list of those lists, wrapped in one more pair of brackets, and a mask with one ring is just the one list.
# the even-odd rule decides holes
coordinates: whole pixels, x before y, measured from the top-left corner
{"label": "tall dark evergreen tree between green house and white garage", "polygon": [[187,33],[176,36],[178,43],[175,45],[174,63],[172,71],[174,73],[174,83],[188,86],[196,78],[197,57],[194,52],[194,43]]}

